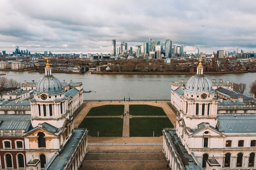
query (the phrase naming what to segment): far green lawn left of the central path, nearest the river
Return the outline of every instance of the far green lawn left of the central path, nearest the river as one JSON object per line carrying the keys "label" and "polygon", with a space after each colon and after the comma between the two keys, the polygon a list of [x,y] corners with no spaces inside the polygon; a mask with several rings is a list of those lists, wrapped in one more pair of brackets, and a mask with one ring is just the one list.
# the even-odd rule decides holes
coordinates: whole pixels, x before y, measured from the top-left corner
{"label": "far green lawn left of the central path, nearest the river", "polygon": [[121,116],[124,115],[124,105],[104,105],[92,108],[87,116]]}

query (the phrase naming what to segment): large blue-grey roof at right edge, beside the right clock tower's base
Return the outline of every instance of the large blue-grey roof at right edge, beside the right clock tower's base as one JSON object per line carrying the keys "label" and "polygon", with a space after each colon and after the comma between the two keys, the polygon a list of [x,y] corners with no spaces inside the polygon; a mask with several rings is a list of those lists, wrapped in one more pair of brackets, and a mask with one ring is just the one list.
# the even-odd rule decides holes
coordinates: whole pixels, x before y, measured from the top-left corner
{"label": "large blue-grey roof at right edge, beside the right clock tower's base", "polygon": [[255,133],[255,125],[255,115],[219,116],[216,128],[226,133]]}

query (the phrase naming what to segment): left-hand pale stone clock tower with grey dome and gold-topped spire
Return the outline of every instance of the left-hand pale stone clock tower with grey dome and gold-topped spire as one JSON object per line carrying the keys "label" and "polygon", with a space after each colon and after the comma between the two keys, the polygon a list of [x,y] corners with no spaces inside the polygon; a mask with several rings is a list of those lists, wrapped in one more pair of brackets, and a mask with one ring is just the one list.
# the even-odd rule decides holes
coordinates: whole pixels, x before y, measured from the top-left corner
{"label": "left-hand pale stone clock tower with grey dome and gold-topped spire", "polygon": [[69,118],[67,110],[67,97],[61,86],[61,82],[52,75],[48,57],[45,57],[45,75],[36,84],[34,98],[31,102],[31,122],[36,127],[40,123],[47,122],[56,128],[61,128],[66,118]]}

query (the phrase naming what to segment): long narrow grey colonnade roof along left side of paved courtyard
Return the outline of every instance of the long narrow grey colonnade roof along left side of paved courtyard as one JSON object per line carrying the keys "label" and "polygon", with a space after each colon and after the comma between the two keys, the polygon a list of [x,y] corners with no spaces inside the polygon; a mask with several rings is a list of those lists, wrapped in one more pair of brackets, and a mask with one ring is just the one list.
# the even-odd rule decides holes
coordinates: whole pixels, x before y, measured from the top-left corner
{"label": "long narrow grey colonnade roof along left side of paved courtyard", "polygon": [[[74,135],[71,137],[70,141],[67,143],[61,154],[57,155],[52,162],[49,162],[45,165],[47,170],[63,170],[64,166],[68,163],[71,157],[71,153],[76,148],[76,145],[79,143],[79,139],[83,136],[84,129],[74,129]],[[75,156],[75,155],[74,155]],[[72,162],[70,162],[72,163]],[[69,166],[67,167],[67,169]]]}

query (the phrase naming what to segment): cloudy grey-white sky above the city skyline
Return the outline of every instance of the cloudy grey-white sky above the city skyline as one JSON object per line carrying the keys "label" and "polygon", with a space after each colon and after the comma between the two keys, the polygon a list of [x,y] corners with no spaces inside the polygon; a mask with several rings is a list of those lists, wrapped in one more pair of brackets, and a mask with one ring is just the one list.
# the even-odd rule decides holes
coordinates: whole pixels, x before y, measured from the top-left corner
{"label": "cloudy grey-white sky above the city skyline", "polygon": [[255,0],[0,0],[0,52],[110,53],[149,38],[184,51],[256,51]]}

